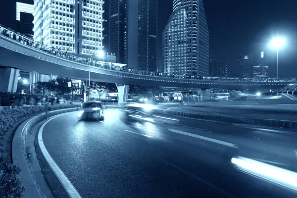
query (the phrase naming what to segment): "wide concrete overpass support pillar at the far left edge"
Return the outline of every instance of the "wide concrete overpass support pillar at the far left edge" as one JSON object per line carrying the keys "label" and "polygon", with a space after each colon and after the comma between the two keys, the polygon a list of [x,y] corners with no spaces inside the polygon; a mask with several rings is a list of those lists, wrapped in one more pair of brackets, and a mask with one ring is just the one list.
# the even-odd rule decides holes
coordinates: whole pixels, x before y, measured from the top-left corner
{"label": "wide concrete overpass support pillar at the far left edge", "polygon": [[8,67],[1,70],[3,73],[0,72],[0,92],[15,93],[20,70]]}

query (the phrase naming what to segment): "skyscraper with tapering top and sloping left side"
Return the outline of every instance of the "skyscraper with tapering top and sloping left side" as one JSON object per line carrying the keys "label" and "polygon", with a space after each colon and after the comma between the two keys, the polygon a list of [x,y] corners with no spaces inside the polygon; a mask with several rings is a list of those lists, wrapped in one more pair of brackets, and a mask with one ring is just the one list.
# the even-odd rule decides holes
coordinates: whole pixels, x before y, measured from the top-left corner
{"label": "skyscraper with tapering top and sloping left side", "polygon": [[164,72],[208,76],[209,34],[202,0],[173,0],[163,31]]}

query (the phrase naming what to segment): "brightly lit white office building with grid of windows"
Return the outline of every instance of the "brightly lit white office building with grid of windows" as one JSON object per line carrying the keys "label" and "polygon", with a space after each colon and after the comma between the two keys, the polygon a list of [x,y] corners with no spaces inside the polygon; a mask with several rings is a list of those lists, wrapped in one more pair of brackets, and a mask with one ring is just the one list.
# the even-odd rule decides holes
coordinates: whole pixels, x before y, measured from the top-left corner
{"label": "brightly lit white office building with grid of windows", "polygon": [[34,0],[34,40],[83,55],[103,49],[103,0]]}

